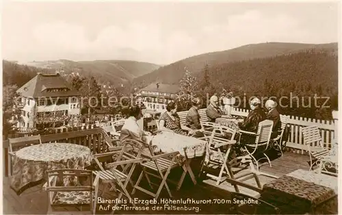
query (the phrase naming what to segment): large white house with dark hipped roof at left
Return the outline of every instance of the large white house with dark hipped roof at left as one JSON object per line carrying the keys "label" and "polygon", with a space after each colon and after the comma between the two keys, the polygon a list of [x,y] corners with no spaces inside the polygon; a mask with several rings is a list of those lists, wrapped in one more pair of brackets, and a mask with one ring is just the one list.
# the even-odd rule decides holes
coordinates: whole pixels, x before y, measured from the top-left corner
{"label": "large white house with dark hipped roof at left", "polygon": [[[21,103],[23,103],[21,109],[23,121],[18,123],[18,127],[21,128],[33,129],[38,124],[48,123],[48,121],[39,123],[37,121],[37,117],[44,114],[55,116],[58,112],[58,116],[69,116],[81,112],[81,94],[60,73],[37,73],[36,77],[21,86],[16,92],[21,94]],[[58,124],[60,123],[64,124],[65,122]]]}

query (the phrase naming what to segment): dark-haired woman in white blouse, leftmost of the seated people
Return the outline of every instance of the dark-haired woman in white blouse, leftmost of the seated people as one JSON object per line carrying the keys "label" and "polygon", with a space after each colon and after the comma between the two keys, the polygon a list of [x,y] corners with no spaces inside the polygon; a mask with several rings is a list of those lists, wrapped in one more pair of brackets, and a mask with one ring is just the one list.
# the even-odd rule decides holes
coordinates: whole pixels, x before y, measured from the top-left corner
{"label": "dark-haired woman in white blouse, leftmost of the seated people", "polygon": [[[137,124],[137,121],[142,118],[142,109],[135,106],[128,110],[129,117],[124,122],[120,132],[120,142],[124,140],[137,140],[140,142],[146,142],[146,136],[150,135],[150,132],[143,131]],[[148,149],[144,149],[148,152]]]}

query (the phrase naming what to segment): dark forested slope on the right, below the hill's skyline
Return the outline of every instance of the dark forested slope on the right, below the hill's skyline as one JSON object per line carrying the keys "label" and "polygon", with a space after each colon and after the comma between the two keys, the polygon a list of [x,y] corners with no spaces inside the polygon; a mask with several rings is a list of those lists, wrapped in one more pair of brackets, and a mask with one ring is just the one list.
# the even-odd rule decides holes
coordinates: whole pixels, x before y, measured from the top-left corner
{"label": "dark forested slope on the right, below the hill's skyline", "polygon": [[[279,103],[283,98],[279,107],[282,114],[309,118],[328,119],[331,110],[337,110],[338,58],[332,53],[304,51],[209,65],[197,78],[202,96],[225,88],[241,99],[257,96],[265,101],[265,97],[276,97]],[[206,86],[206,79],[210,86]],[[248,103],[241,103],[239,108],[248,108]]]}

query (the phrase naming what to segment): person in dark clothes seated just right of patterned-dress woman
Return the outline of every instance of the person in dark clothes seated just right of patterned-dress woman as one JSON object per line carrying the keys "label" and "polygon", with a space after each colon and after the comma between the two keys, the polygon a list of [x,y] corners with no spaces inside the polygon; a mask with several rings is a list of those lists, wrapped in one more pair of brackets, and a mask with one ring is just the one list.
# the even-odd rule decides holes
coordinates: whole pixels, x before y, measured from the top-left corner
{"label": "person in dark clothes seated just right of patterned-dress woman", "polygon": [[195,138],[204,137],[204,134],[199,131],[202,128],[200,125],[200,114],[198,114],[198,108],[201,103],[202,101],[199,98],[192,99],[192,108],[189,109],[187,116],[185,116],[185,126],[189,127],[195,132]]}

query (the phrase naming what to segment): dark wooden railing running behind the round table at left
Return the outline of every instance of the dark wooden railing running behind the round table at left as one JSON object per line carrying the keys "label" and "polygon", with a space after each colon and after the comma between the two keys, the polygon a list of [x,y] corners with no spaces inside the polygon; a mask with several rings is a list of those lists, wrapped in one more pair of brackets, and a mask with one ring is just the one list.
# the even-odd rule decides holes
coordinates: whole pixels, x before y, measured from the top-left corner
{"label": "dark wooden railing running behind the round table at left", "polygon": [[[107,151],[107,144],[102,128],[94,128],[83,131],[69,131],[59,134],[49,134],[41,136],[42,142],[67,142],[89,147],[92,153],[102,153]],[[8,140],[3,141],[3,157],[5,176],[8,176]]]}

